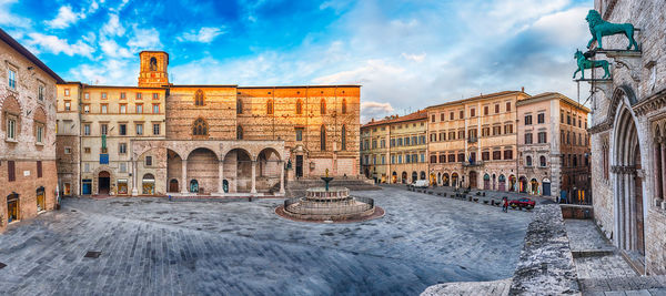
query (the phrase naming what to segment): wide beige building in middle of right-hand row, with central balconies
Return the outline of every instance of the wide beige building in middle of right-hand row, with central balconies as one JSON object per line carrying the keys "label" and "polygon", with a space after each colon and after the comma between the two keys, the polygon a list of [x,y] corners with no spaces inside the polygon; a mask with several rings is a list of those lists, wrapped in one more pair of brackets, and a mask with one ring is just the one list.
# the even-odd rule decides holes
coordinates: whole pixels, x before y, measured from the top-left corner
{"label": "wide beige building in middle of right-hand row, with central balconies", "polygon": [[516,102],[528,96],[505,91],[427,108],[432,182],[515,191]]}

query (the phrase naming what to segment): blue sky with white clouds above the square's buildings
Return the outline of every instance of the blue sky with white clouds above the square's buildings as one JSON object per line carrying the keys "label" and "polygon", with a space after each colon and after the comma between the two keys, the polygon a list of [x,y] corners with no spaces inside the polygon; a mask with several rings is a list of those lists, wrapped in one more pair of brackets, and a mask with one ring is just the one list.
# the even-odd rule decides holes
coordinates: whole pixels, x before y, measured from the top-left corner
{"label": "blue sky with white clouds above the square's buildings", "polygon": [[593,6],[592,0],[155,2],[0,0],[0,28],[71,81],[135,85],[139,51],[164,50],[176,84],[361,84],[364,122],[522,86],[575,100],[573,53],[588,40],[584,19]]}

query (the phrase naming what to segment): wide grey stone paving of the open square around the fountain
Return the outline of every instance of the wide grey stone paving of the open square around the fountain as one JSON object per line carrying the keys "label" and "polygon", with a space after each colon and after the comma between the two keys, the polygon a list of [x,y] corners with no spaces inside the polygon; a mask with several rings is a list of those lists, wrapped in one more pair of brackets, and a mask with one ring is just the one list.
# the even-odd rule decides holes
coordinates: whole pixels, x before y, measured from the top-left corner
{"label": "wide grey stone paving of the open square around the fountain", "polygon": [[282,200],[64,200],[0,235],[0,295],[415,295],[509,277],[532,216],[395,188],[353,194],[386,215],[309,224],[276,216]]}

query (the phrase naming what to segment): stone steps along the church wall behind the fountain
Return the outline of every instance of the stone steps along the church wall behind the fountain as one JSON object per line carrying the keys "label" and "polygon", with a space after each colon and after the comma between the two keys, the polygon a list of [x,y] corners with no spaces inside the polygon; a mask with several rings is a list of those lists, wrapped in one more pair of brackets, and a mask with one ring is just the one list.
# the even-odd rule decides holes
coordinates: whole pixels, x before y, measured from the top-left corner
{"label": "stone steps along the church wall behind the fountain", "polygon": [[[305,191],[311,187],[323,187],[324,181],[321,178],[300,178],[287,181],[285,187],[286,197],[305,196]],[[331,187],[347,187],[350,191],[374,191],[381,190],[371,178],[334,178],[329,184]]]}

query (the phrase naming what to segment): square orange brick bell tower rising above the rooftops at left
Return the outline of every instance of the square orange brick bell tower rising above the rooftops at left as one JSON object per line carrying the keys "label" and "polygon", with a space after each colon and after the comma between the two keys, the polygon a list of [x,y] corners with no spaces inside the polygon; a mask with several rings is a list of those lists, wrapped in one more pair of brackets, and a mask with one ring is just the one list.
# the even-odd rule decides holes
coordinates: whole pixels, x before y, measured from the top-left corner
{"label": "square orange brick bell tower rising above the rooftops at left", "polygon": [[139,71],[140,88],[161,88],[169,84],[169,53],[163,51],[142,51],[139,53],[141,69]]}

